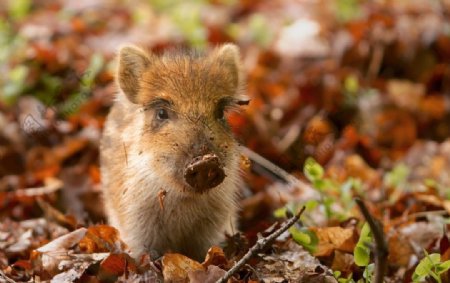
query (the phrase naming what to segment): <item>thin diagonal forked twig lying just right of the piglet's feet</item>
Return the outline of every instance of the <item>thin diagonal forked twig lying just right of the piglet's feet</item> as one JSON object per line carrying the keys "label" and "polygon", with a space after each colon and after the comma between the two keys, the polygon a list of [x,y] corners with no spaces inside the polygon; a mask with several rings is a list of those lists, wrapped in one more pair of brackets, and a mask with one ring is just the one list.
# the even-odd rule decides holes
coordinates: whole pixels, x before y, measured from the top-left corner
{"label": "thin diagonal forked twig lying just right of the piglet's feet", "polygon": [[303,211],[305,211],[305,207],[302,207],[302,209],[296,215],[292,216],[288,221],[284,222],[284,224],[280,228],[278,228],[278,230],[265,238],[258,239],[255,245],[253,245],[253,247],[251,247],[250,250],[230,270],[228,270],[222,278],[217,280],[216,283],[227,282],[228,279],[230,279],[233,274],[241,269],[242,266],[244,266],[253,256],[255,256],[258,252],[264,250],[270,243],[272,243],[272,241],[274,241],[282,233],[284,233],[287,229],[294,225],[300,219]]}

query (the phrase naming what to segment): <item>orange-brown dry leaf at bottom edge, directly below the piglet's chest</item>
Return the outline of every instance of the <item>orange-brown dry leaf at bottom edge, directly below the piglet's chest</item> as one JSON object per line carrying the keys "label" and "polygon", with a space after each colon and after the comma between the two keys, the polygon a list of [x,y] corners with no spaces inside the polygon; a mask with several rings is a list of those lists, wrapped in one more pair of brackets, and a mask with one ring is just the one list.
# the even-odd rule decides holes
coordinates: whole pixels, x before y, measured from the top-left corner
{"label": "orange-brown dry leaf at bottom edge, directly below the piglet's chest", "polygon": [[204,271],[203,266],[181,254],[165,254],[162,259],[164,282],[189,282],[189,273]]}

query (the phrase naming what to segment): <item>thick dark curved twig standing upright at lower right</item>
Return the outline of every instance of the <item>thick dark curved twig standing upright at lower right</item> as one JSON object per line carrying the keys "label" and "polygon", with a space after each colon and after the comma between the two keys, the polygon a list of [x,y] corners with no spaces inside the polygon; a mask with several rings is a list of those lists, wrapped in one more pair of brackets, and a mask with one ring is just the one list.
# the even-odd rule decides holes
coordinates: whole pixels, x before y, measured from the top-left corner
{"label": "thick dark curved twig standing upright at lower right", "polygon": [[383,227],[381,223],[370,215],[367,206],[360,198],[355,198],[356,204],[359,206],[361,213],[369,224],[375,240],[375,275],[374,283],[383,283],[384,275],[387,270],[387,257],[389,255],[389,248],[384,237]]}

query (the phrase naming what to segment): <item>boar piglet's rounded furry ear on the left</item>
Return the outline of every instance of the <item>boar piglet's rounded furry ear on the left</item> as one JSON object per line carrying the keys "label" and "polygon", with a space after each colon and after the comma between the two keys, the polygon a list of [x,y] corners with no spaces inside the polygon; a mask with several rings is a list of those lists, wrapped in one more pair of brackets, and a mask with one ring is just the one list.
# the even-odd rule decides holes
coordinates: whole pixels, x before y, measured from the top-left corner
{"label": "boar piglet's rounded furry ear on the left", "polygon": [[138,103],[139,81],[145,69],[151,64],[152,57],[136,46],[124,46],[119,51],[117,83],[133,103]]}

